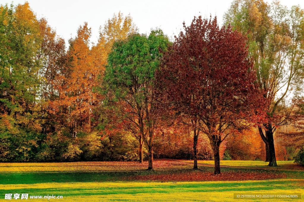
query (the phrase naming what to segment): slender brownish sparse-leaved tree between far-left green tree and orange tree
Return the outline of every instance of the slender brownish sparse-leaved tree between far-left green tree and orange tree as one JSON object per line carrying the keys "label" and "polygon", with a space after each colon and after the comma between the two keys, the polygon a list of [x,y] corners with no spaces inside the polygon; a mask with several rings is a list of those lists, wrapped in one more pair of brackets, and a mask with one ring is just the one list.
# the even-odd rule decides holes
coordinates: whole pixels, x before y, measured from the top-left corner
{"label": "slender brownish sparse-leaved tree between far-left green tree and orange tree", "polygon": [[58,123],[57,116],[52,113],[51,103],[58,99],[59,94],[56,91],[56,78],[62,74],[66,64],[66,51],[64,39],[57,36],[56,31],[52,29],[47,20],[39,20],[41,46],[39,47],[35,62],[39,66],[39,75],[41,76],[39,94],[40,110],[43,121],[41,121],[41,133],[48,134],[55,131]]}

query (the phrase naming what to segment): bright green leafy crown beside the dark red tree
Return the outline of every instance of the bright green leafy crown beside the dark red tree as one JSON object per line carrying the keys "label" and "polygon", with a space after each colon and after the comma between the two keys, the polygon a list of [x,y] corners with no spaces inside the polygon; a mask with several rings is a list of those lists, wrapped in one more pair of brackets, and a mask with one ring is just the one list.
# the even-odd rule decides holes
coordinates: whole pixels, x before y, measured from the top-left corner
{"label": "bright green leafy crown beside the dark red tree", "polygon": [[113,91],[116,98],[125,98],[132,89],[144,92],[152,84],[168,44],[168,37],[160,29],[152,30],[149,36],[134,34],[126,41],[117,41],[105,69],[106,91]]}

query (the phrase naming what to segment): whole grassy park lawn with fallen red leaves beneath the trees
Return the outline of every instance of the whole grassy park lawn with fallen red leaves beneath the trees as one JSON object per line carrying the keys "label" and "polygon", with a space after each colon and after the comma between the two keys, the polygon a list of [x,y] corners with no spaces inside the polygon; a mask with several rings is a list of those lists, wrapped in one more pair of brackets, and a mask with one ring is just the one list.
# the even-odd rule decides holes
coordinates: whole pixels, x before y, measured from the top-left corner
{"label": "whole grassy park lawn with fallen red leaves beneath the trees", "polygon": [[[293,161],[221,161],[222,174],[213,174],[213,161],[156,159],[147,162],[0,163],[0,201],[5,194],[63,196],[50,201],[250,201],[234,194],[301,194],[304,167]],[[12,199],[14,200],[14,199]],[[20,198],[19,198],[20,200]],[[251,201],[289,201],[254,199]]]}

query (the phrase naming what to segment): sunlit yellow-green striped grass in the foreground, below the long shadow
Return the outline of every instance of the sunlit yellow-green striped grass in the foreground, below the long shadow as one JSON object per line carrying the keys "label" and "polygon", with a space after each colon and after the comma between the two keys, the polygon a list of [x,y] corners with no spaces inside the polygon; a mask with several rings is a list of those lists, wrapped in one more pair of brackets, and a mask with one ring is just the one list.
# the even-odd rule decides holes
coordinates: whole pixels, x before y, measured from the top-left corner
{"label": "sunlit yellow-green striped grass in the foreground, below the long shadow", "polygon": [[[63,195],[64,201],[233,201],[233,193],[301,193],[304,180],[248,180],[217,182],[86,182],[8,184],[5,193]],[[148,196],[148,197],[147,197]],[[221,199],[221,200],[220,200]]]}

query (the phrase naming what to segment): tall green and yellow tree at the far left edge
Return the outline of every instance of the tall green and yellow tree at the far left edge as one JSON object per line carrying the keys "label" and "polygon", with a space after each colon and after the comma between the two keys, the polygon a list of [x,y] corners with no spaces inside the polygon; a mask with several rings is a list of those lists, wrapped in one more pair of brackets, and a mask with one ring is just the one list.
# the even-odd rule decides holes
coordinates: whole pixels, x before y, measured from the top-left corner
{"label": "tall green and yellow tree at the far left edge", "polygon": [[[23,119],[39,127],[35,121],[29,120],[35,111],[35,95],[41,79],[40,67],[34,60],[41,45],[38,20],[28,3],[15,8],[1,6],[0,12],[1,114],[15,119],[16,124],[22,124]],[[31,127],[26,122],[23,126]]]}

